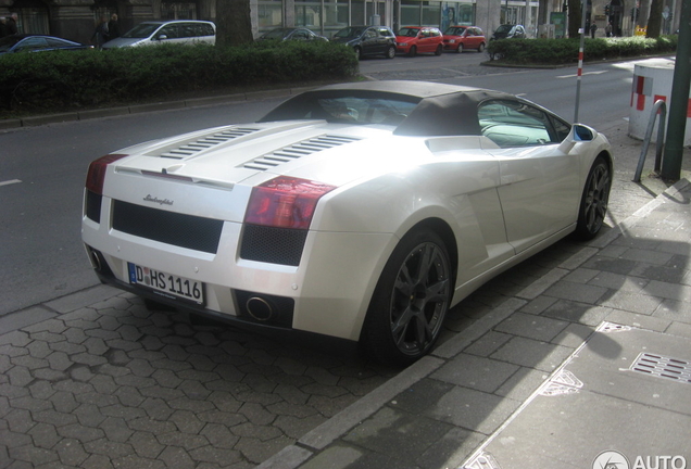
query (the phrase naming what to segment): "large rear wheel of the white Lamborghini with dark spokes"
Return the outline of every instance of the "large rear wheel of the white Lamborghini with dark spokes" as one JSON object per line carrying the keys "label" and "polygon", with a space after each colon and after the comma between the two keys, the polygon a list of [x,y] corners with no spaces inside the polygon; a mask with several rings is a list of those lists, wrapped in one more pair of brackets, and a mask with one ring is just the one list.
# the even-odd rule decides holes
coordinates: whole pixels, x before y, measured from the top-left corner
{"label": "large rear wheel of the white Lamborghini with dark spokes", "polygon": [[387,262],[369,303],[363,345],[370,358],[407,366],[439,338],[452,293],[451,262],[431,230],[412,231]]}

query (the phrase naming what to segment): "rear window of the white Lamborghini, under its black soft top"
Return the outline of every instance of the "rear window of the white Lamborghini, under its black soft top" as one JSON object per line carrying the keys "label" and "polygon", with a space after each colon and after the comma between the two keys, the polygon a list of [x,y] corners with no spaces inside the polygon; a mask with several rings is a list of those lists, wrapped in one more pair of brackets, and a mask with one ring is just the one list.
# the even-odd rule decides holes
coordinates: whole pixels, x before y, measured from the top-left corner
{"label": "rear window of the white Lamborghini, under its black soft top", "polygon": [[324,119],[338,124],[398,125],[419,98],[373,91],[314,91],[286,101],[260,122]]}

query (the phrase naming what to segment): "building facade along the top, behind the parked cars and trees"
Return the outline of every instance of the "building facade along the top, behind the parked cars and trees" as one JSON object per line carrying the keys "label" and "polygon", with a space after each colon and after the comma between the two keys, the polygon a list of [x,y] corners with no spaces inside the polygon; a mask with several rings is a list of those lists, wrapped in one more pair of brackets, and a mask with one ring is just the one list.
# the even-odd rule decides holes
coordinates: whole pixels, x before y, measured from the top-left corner
{"label": "building facade along the top, behind the parked cars and trees", "polygon": [[[50,34],[89,42],[98,18],[116,13],[126,31],[147,20],[211,20],[216,1],[235,0],[0,0],[0,16],[17,13],[21,33]],[[588,0],[589,23],[603,36],[608,22],[618,35],[633,34],[629,12],[639,0]],[[665,0],[669,16],[682,0]],[[362,24],[402,26],[476,25],[490,35],[500,24],[523,24],[532,37],[564,35],[565,0],[250,0],[255,37],[276,27],[305,26],[330,37]],[[605,14],[605,7],[610,5]],[[663,30],[676,30],[674,20]],[[678,23],[677,23],[678,24]]]}

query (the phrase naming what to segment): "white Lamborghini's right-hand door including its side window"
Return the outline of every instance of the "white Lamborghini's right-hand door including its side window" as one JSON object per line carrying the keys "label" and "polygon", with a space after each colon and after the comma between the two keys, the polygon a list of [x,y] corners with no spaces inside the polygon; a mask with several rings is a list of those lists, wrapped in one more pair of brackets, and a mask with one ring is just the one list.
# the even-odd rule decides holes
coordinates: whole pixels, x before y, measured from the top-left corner
{"label": "white Lamborghini's right-hand door including its side window", "polygon": [[519,253],[567,228],[578,216],[579,159],[558,144],[569,125],[519,100],[478,107],[481,132],[500,149],[501,200],[508,242]]}

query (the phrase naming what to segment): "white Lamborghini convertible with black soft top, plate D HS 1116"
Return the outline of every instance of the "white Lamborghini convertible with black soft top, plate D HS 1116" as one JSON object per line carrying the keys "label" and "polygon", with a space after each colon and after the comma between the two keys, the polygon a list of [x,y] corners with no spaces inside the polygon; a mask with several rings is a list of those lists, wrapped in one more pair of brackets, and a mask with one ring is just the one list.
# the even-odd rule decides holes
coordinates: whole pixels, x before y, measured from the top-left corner
{"label": "white Lamborghini convertible with black soft top, plate D HS 1116", "polygon": [[515,96],[344,84],[96,160],[81,232],[105,283],[409,364],[485,281],[594,237],[612,174],[604,136]]}

